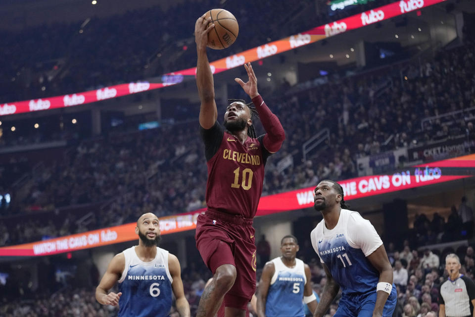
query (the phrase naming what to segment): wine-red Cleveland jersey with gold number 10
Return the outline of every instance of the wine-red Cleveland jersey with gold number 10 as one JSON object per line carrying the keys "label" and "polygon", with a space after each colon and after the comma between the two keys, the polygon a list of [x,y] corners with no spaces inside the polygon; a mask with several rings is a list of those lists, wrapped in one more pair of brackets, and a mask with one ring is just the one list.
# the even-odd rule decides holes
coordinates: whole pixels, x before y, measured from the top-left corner
{"label": "wine-red Cleveland jersey with gold number 10", "polygon": [[208,210],[252,218],[262,194],[264,165],[270,153],[264,135],[247,137],[244,144],[216,122],[202,129],[208,166],[206,205]]}

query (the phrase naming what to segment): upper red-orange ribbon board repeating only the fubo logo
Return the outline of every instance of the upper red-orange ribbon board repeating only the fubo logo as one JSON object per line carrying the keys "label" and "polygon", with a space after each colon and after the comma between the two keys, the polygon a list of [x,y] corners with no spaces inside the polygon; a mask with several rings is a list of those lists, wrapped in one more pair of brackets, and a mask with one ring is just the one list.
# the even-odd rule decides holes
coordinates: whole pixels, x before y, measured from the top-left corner
{"label": "upper red-orange ribbon board repeating only the fubo logo", "polygon": [[[244,52],[238,53],[239,56],[242,56],[242,63],[233,63],[230,65],[229,61],[227,64],[227,59],[233,58],[233,56],[228,56],[221,58],[215,61],[210,62],[211,69],[214,73],[220,73],[231,68],[241,67],[243,63],[257,61],[259,65],[262,65],[262,59],[269,56],[287,52],[305,45],[315,43],[317,41],[322,41],[329,37],[338,35],[340,33],[349,32],[351,30],[359,29],[361,27],[375,24],[378,25],[380,21],[391,19],[395,16],[400,16],[408,12],[416,11],[425,7],[428,7],[433,4],[445,2],[447,0],[424,0],[424,1],[414,1],[414,0],[400,0],[397,2],[392,2],[372,10],[358,13],[352,16],[349,16],[344,19],[333,21],[329,24],[320,25],[313,29],[307,30],[302,33],[294,34],[289,37],[270,42],[271,39],[268,39],[268,43],[263,43],[261,46],[249,49]],[[382,14],[378,13],[378,16],[375,17],[375,12],[381,11]],[[443,21],[441,21],[443,23]],[[80,33],[82,33],[80,29]],[[181,76],[194,76],[196,74],[196,67],[189,69],[177,70],[172,73],[164,75],[181,75]],[[139,85],[140,87],[132,87],[130,85]],[[43,98],[40,100],[25,100],[18,101],[13,103],[8,103],[9,111],[0,111],[2,115],[21,113],[21,112],[31,112],[45,109],[60,108],[66,106],[78,106],[89,103],[94,103],[104,99],[118,98],[121,96],[132,95],[135,93],[140,93],[142,91],[148,91],[153,89],[160,89],[163,87],[168,87],[173,84],[169,83],[150,83],[148,86],[143,87],[141,83],[130,83],[130,84],[120,84],[110,87],[101,88],[98,90],[91,90],[87,92],[78,92],[73,94],[74,98],[70,95],[65,96],[55,96],[49,98]],[[66,98],[67,97],[67,98]],[[66,103],[65,103],[66,99]],[[73,101],[73,102],[71,102]],[[30,104],[33,103],[35,106],[31,107]],[[38,106],[40,105],[40,106]],[[14,106],[14,107],[13,107]],[[3,106],[4,107],[4,106]]]}

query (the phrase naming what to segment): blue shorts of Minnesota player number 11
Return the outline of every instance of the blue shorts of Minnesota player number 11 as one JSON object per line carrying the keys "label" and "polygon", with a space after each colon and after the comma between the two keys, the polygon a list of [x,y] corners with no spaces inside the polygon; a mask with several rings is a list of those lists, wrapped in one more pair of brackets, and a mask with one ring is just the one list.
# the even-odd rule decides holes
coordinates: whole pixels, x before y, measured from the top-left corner
{"label": "blue shorts of Minnesota player number 11", "polygon": [[[333,317],[372,317],[376,305],[376,289],[370,294],[357,296],[343,295],[338,303],[338,309]],[[391,317],[396,308],[397,293],[392,287],[391,294],[387,298],[382,310],[382,317]]]}

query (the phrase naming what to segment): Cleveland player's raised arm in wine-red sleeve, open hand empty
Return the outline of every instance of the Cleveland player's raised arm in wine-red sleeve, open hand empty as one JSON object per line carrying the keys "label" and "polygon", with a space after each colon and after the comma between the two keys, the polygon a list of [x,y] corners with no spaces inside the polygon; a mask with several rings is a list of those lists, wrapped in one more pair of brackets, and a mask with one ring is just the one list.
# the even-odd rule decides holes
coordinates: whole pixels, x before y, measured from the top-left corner
{"label": "Cleveland player's raised arm in wine-red sleeve, open hand empty", "polygon": [[264,147],[270,153],[275,153],[279,151],[282,146],[282,143],[285,140],[284,128],[282,127],[282,124],[279,121],[277,115],[272,113],[266,103],[264,103],[262,97],[259,95],[257,91],[257,77],[254,73],[254,70],[252,69],[251,63],[244,64],[244,67],[246,68],[249,80],[244,83],[239,78],[235,78],[235,81],[252,99],[252,102],[256,107],[257,113],[259,114],[259,119],[261,120],[262,126],[267,132],[263,139]]}

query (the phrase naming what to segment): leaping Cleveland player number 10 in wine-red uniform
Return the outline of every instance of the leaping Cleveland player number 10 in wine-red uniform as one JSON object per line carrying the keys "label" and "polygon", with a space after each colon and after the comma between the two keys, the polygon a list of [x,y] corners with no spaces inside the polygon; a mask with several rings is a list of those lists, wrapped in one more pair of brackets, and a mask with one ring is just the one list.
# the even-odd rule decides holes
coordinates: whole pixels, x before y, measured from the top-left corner
{"label": "leaping Cleveland player number 10 in wine-red uniform", "polygon": [[[213,74],[206,54],[211,19],[195,24],[196,85],[201,100],[199,124],[208,166],[205,214],[198,216],[196,247],[214,274],[201,296],[197,317],[215,316],[225,302],[226,317],[244,317],[256,288],[256,247],[252,219],[257,211],[267,158],[285,139],[284,129],[257,91],[250,63],[244,65],[249,80],[235,81],[252,99],[251,104],[232,100],[217,121]],[[259,117],[266,134],[256,136],[252,119]]]}

